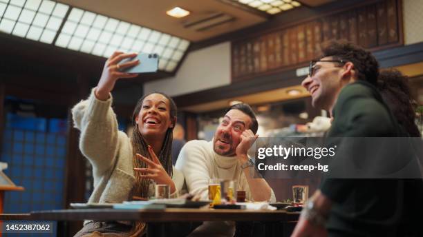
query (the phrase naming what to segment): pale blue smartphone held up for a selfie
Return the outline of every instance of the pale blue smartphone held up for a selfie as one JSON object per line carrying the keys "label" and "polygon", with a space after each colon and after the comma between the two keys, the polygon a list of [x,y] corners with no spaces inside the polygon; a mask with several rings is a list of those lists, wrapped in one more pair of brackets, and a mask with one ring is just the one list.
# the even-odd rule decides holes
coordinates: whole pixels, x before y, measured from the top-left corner
{"label": "pale blue smartphone held up for a selfie", "polygon": [[121,72],[129,73],[145,73],[145,72],[157,72],[158,70],[158,55],[157,54],[145,54],[140,53],[137,56],[124,59],[120,61],[119,64],[125,63],[127,61],[140,60],[140,64],[135,65],[131,68],[122,68]]}

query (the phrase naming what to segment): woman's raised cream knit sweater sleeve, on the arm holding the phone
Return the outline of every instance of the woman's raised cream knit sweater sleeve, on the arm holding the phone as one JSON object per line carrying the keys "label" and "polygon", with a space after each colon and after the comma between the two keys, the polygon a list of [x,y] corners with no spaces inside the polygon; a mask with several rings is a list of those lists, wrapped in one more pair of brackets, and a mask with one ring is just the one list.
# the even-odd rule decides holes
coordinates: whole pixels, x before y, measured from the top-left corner
{"label": "woman's raised cream knit sweater sleeve, on the arm holding the phone", "polygon": [[72,116],[75,128],[81,131],[79,149],[95,171],[102,173],[113,165],[118,152],[118,121],[111,109],[111,94],[107,101],[100,101],[94,91],[73,107]]}

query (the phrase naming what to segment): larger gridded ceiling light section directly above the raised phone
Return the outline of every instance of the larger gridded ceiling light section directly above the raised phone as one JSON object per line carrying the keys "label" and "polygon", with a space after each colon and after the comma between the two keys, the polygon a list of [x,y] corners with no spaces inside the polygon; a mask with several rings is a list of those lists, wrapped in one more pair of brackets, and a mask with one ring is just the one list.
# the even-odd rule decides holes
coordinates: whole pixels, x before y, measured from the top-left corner
{"label": "larger gridded ceiling light section directly above the raised phone", "polygon": [[189,41],[73,8],[57,37],[56,45],[106,58],[116,50],[156,53],[159,55],[159,70],[173,72],[185,54]]}

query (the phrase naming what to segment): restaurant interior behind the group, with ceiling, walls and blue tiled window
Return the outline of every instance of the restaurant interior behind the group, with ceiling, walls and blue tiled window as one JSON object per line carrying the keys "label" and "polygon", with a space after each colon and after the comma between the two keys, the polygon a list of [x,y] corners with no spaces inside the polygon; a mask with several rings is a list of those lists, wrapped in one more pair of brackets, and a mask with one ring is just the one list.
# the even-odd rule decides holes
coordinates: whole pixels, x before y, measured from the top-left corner
{"label": "restaurant interior behind the group, with ceiling, walls and blue tiled window", "polygon": [[[190,14],[166,14],[176,6]],[[0,162],[25,189],[6,192],[2,211],[87,200],[91,167],[70,109],[114,50],[160,56],[157,73],[118,81],[113,91],[123,131],[142,94],[160,91],[176,101],[187,141],[211,139],[234,101],[254,107],[260,136],[320,136],[299,126],[327,117],[300,83],[328,39],[353,41],[382,68],[408,75],[422,131],[421,12],[420,0],[0,0]],[[312,193],[318,182],[269,180],[277,200],[292,198],[292,185]],[[70,223],[68,233],[80,225]]]}

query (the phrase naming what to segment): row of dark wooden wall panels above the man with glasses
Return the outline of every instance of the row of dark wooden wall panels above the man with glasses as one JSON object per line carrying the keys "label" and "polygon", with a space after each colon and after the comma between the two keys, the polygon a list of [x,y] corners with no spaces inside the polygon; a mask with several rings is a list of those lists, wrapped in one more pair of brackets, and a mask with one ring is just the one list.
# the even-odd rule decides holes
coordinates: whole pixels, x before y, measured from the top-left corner
{"label": "row of dark wooden wall panels above the man with glasses", "polygon": [[[245,70],[245,73],[233,76],[232,81],[245,81],[256,78],[258,74],[282,72],[306,65],[308,61],[319,56],[319,44],[323,41],[344,39],[369,50],[401,45],[399,2],[400,0],[368,1],[367,4],[359,4],[355,8],[339,10],[316,19],[300,21],[283,28],[234,40],[232,45],[241,45],[241,48],[245,42],[254,40],[260,42],[260,47],[254,45],[254,54],[250,54],[255,58],[252,59],[254,68],[260,70],[254,70],[254,73]],[[384,19],[387,19],[387,23],[384,23]],[[389,35],[384,39],[383,34],[386,30]],[[382,35],[380,39],[379,34]],[[281,48],[276,47],[275,37],[280,39]],[[281,63],[276,62],[276,58],[279,59],[279,52],[281,52]],[[248,60],[245,59],[246,65]]]}

